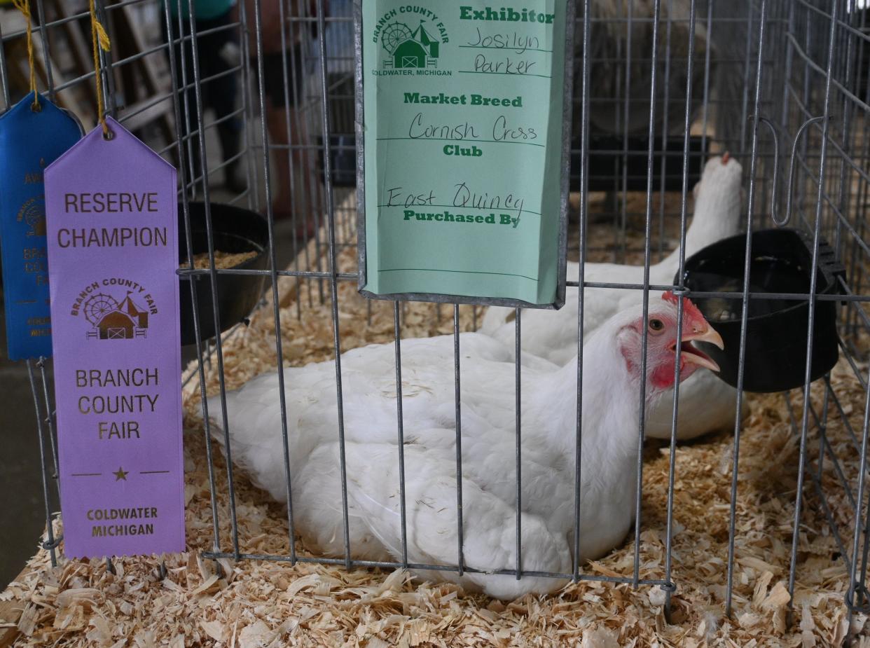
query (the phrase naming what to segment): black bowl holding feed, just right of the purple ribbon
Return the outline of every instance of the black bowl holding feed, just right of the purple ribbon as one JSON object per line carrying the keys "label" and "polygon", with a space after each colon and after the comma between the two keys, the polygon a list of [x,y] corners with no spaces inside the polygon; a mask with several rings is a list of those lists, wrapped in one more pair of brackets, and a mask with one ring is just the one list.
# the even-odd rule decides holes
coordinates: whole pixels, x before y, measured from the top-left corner
{"label": "black bowl holding feed, just right of the purple ribbon", "polygon": [[[189,203],[193,253],[209,250],[205,233],[205,204]],[[243,264],[234,266],[241,270],[265,270],[268,265],[266,247],[269,242],[269,225],[258,213],[243,210],[228,204],[211,203],[211,230],[214,249],[221,252],[257,252]],[[184,229],[184,211],[178,204],[178,256],[179,264],[187,265],[187,237]],[[207,340],[217,335],[211,301],[211,279],[208,274],[181,277],[181,344],[195,344],[193,304],[191,301],[192,277],[197,292],[199,338]],[[218,274],[218,317],[220,331],[226,331],[242,322],[251,314],[263,293],[264,275]]]}

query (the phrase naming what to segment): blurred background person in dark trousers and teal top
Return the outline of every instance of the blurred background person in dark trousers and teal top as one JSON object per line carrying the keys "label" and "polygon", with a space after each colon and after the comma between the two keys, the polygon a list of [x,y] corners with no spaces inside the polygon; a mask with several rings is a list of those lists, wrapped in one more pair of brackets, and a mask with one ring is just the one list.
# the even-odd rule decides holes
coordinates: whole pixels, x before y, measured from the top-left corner
{"label": "blurred background person in dark trousers and teal top", "polygon": [[[196,18],[196,48],[199,59],[199,77],[202,79],[203,111],[212,109],[218,123],[218,140],[221,161],[224,163],[224,186],[233,193],[241,193],[247,188],[240,177],[242,115],[233,114],[238,96],[239,34],[235,23],[234,6],[236,0],[165,0],[171,14],[171,31],[175,49],[176,77],[179,87],[186,81],[187,90],[179,90],[178,99],[184,124],[182,135],[191,137],[197,131],[197,97],[193,86],[193,46],[191,40],[178,43],[179,33],[191,36],[190,3],[193,3]],[[178,18],[181,17],[179,32]],[[163,24],[163,21],[161,21]],[[164,37],[165,24],[164,24]],[[183,45],[183,47],[182,47]],[[182,57],[184,50],[184,57]],[[182,75],[184,64],[184,75]],[[213,77],[213,78],[212,78]],[[186,97],[186,104],[185,104]],[[204,121],[208,126],[208,122]],[[202,175],[199,159],[199,141],[194,135],[191,146],[184,147],[185,153],[191,151],[188,167],[188,182]],[[216,165],[212,165],[216,166]]]}

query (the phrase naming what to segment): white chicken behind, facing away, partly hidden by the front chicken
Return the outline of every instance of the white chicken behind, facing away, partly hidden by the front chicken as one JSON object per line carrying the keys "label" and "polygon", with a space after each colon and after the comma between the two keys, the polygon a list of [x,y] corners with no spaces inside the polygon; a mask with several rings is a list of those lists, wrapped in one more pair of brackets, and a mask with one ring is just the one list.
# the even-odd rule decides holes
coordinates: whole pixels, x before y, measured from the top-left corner
{"label": "white chicken behind, facing away, partly hidden by the front chicken", "polygon": [[[695,210],[686,230],[686,257],[733,236],[740,229],[740,163],[727,153],[707,161],[704,173],[695,185]],[[650,284],[672,284],[679,271],[679,248],[650,265]],[[568,263],[567,278],[578,281],[579,264]],[[586,264],[587,282],[643,284],[644,269],[638,265]],[[659,292],[651,292],[650,299]],[[559,311],[523,311],[520,344],[523,351],[543,357],[555,364],[566,364],[577,356],[577,306],[579,291],[569,288],[566,304]],[[643,293],[620,288],[587,288],[584,297],[584,336],[596,331],[608,317],[633,304],[640,304]],[[480,332],[507,345],[514,345],[516,326],[514,310],[490,307]],[[699,371],[679,389],[677,438],[698,437],[734,424],[736,391],[708,371]],[[746,411],[746,408],[744,409]],[[670,438],[673,421],[673,394],[659,400],[646,422],[646,434]]]}

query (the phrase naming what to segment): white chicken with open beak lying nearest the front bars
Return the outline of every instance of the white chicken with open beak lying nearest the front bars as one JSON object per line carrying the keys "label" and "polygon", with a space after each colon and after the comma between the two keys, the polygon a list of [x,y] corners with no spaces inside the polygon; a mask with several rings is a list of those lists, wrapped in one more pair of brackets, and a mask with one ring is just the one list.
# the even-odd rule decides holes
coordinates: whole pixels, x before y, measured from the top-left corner
{"label": "white chicken with open beak lying nearest the front bars", "polygon": [[[634,519],[641,336],[648,330],[646,402],[673,385],[679,341],[677,297],[623,311],[584,346],[579,561],[619,544]],[[680,379],[713,361],[690,340],[721,346],[721,337],[684,300]],[[457,564],[456,418],[452,336],[402,341],[407,558]],[[461,440],[464,564],[479,572],[419,571],[496,598],[553,591],[558,578],[520,580],[492,571],[517,564],[515,381],[512,349],[464,333]],[[398,424],[392,344],[342,355],[347,503],[351,556],[402,559]],[[334,362],[284,370],[296,530],[328,556],[345,553]],[[571,573],[577,426],[577,362],[558,367],[525,357],[521,401],[521,538],[523,571]],[[227,394],[232,461],[254,484],[286,502],[278,374],[254,378]],[[220,419],[218,397],[209,400]],[[214,436],[224,443],[215,425]],[[490,572],[490,573],[484,573]]]}

